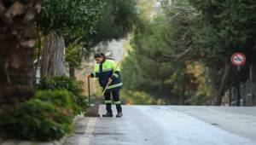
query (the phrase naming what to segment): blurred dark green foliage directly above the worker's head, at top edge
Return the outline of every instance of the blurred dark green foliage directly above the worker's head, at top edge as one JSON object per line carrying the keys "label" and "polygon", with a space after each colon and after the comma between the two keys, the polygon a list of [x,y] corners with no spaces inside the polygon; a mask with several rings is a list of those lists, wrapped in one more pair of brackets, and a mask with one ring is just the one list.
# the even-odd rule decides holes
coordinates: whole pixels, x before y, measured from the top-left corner
{"label": "blurred dark green foliage directly above the worker's head, at top edge", "polygon": [[94,32],[87,38],[88,47],[113,39],[125,38],[138,21],[136,0],[108,0]]}

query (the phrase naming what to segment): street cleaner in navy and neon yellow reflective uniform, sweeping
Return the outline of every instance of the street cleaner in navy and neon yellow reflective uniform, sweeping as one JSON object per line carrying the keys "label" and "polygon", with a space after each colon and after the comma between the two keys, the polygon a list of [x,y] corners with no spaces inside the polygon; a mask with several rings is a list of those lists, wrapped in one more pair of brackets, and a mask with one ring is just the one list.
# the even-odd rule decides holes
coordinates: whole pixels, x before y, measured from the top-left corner
{"label": "street cleaner in navy and neon yellow reflective uniform, sweeping", "polygon": [[102,117],[113,117],[111,108],[111,96],[113,96],[113,104],[116,105],[117,109],[116,117],[120,118],[123,116],[119,99],[119,90],[123,87],[120,78],[120,69],[114,61],[106,59],[105,55],[102,53],[94,55],[94,58],[96,60],[95,71],[90,75],[87,75],[87,77],[98,78],[99,84],[103,90],[108,87],[104,93],[107,113],[102,115]]}

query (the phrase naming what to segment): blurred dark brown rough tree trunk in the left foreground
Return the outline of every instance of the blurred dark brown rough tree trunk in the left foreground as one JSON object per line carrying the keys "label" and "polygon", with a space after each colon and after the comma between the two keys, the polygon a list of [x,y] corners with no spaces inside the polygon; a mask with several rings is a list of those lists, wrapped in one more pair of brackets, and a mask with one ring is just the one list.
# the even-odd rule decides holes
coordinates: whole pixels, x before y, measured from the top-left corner
{"label": "blurred dark brown rough tree trunk in the left foreground", "polygon": [[0,1],[0,107],[31,98],[40,1]]}

